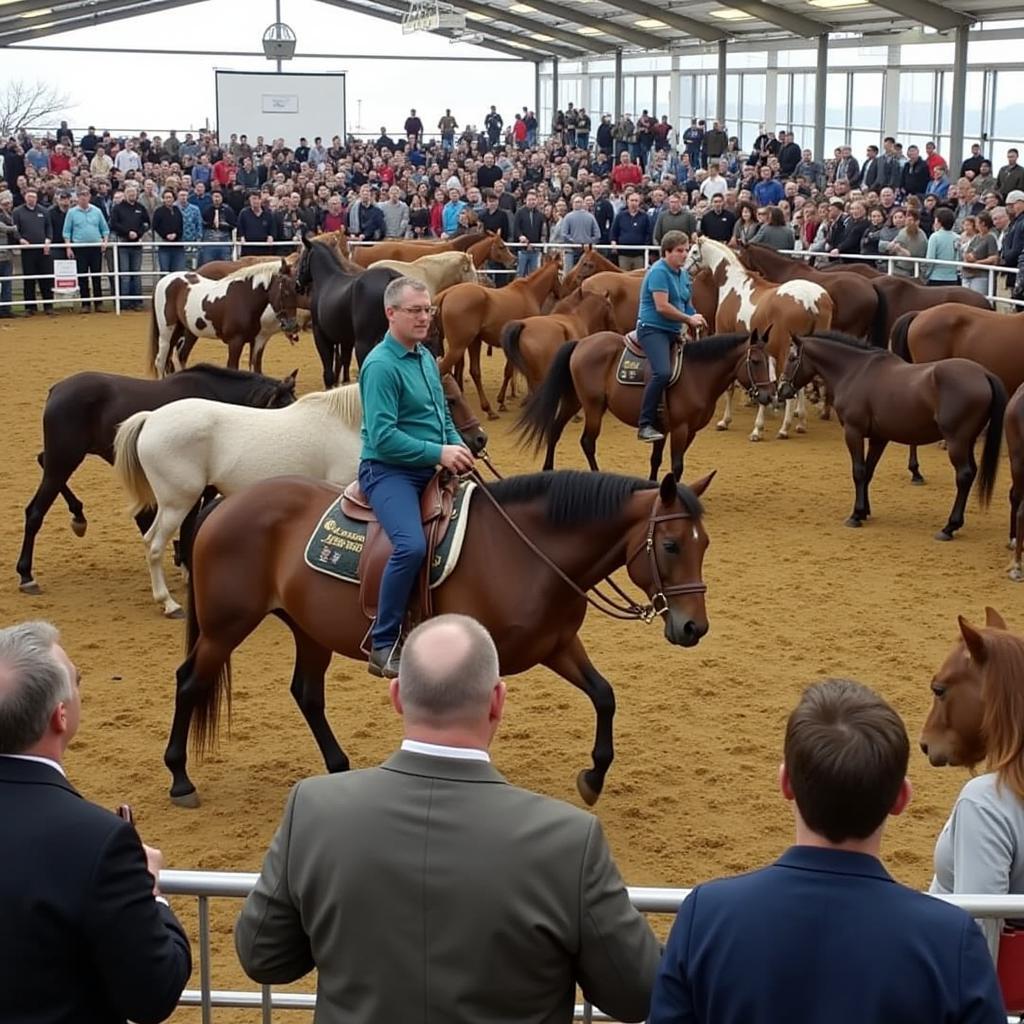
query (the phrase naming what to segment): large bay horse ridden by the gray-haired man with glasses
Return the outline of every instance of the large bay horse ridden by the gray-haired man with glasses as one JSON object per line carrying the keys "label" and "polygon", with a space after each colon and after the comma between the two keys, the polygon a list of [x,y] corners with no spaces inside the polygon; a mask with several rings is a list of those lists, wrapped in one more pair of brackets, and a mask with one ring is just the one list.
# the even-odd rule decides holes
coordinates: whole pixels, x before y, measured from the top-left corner
{"label": "large bay horse ridden by the gray-haired man with glasses", "polygon": [[[713,474],[714,475],[714,474]],[[459,563],[433,593],[436,614],[472,615],[498,647],[503,676],[544,665],[579,687],[597,716],[593,766],[577,779],[593,804],[614,757],[611,684],[591,664],[579,631],[588,591],[625,568],[650,601],[631,598],[613,614],[665,620],[671,644],[692,647],[708,632],[701,580],[708,547],[698,496],[690,487],[579,472],[535,473],[484,484],[472,498]],[[195,807],[186,771],[196,749],[212,745],[221,696],[230,697],[230,655],[273,613],[295,637],[292,695],[329,771],[348,757],[324,715],[324,674],[337,651],[359,658],[369,621],[359,588],[309,568],[303,552],[338,488],[302,477],[266,480],[204,513],[188,579],[187,656],[177,672],[174,721],[164,755],[171,799]]]}

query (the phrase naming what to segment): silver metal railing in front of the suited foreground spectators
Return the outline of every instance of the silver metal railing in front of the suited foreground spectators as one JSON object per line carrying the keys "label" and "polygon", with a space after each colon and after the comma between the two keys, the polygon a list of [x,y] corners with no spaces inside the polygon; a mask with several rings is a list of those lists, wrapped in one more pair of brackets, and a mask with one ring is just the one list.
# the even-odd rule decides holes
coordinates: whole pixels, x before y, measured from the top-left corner
{"label": "silver metal railing in front of the suited foreground spectators", "polygon": [[[258,990],[214,989],[211,978],[210,900],[245,899],[258,876],[248,871],[161,871],[160,888],[165,896],[195,896],[199,902],[200,987],[186,989],[179,1005],[199,1007],[203,1024],[213,1020],[217,1008],[259,1010],[263,1024],[269,1024],[274,1010],[313,1010],[312,992],[276,992],[270,985]],[[630,901],[643,913],[676,913],[690,894],[689,889],[634,887],[628,889]],[[1024,896],[935,896],[966,910],[973,918],[1024,919]],[[1016,1017],[1010,1018],[1017,1020]],[[589,1002],[577,1005],[573,1020],[610,1021]]]}

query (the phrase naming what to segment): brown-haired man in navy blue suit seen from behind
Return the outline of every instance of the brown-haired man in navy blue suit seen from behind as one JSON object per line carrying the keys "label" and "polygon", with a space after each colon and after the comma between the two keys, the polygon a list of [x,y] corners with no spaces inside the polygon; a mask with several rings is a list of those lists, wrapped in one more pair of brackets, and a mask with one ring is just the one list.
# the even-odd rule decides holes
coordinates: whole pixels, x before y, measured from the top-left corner
{"label": "brown-haired man in navy blue suit seen from behind", "polygon": [[769,867],[683,902],[648,1024],[1002,1024],[988,947],[958,907],[879,860],[910,801],[900,717],[865,686],[804,692],[779,784],[797,844]]}

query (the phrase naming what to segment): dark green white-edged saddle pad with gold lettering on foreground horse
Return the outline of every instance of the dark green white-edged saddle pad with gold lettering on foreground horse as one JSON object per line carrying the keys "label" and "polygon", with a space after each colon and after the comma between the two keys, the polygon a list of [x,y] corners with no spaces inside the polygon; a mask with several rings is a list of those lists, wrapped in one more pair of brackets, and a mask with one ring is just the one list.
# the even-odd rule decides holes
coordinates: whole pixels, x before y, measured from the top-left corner
{"label": "dark green white-edged saddle pad with gold lettering on foreground horse", "polygon": [[[439,587],[459,563],[462,542],[469,521],[469,500],[476,484],[463,480],[455,496],[452,523],[441,543],[434,551],[430,565],[430,588]],[[305,550],[305,563],[311,569],[343,580],[359,582],[359,556],[367,541],[369,523],[349,519],[341,511],[341,496],[333,501],[321,516]]]}

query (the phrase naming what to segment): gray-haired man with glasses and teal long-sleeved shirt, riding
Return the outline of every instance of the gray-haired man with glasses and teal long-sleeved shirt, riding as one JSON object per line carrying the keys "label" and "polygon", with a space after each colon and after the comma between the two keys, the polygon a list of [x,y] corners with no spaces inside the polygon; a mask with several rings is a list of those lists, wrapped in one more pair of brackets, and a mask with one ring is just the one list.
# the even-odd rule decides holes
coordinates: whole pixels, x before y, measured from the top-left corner
{"label": "gray-haired man with glasses and teal long-sleeved shirt, riding", "polygon": [[452,422],[440,374],[422,342],[430,329],[430,293],[411,278],[384,292],[388,331],[359,370],[362,453],[359,485],[394,550],[384,568],[372,630],[370,674],[394,679],[409,596],[427,554],[420,496],[440,465],[473,468]]}

